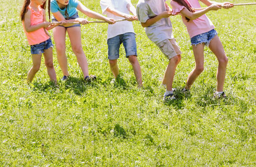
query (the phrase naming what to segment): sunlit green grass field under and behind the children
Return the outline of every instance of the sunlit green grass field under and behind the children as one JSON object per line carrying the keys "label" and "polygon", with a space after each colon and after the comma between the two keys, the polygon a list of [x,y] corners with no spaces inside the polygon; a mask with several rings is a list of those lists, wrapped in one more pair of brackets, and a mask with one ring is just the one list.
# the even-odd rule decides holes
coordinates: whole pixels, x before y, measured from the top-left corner
{"label": "sunlit green grass field under and behind the children", "polygon": [[[101,13],[99,0],[81,2]],[[205,70],[191,95],[185,98],[179,91],[194,58],[181,17],[171,17],[183,54],[173,83],[179,98],[164,104],[160,83],[167,59],[139,22],[133,25],[144,89],[137,88],[123,47],[118,64],[126,84],[111,83],[106,24],[82,26],[83,48],[96,82],[82,81],[66,38],[71,78],[60,81],[54,49],[59,87],[49,82],[43,59],[33,84],[27,85],[32,58],[19,18],[22,3],[0,2],[1,167],[256,166],[256,5],[207,14],[229,58],[225,101],[213,98],[218,62],[208,48]]]}

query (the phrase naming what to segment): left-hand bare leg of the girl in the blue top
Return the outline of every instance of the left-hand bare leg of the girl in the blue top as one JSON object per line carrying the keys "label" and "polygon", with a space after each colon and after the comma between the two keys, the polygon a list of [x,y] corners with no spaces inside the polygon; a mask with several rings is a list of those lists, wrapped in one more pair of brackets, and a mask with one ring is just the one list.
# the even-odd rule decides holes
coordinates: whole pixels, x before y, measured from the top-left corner
{"label": "left-hand bare leg of the girl in the blue top", "polygon": [[66,58],[66,48],[65,48],[65,38],[66,38],[66,29],[64,27],[56,27],[53,29],[53,38],[55,41],[57,59],[61,67],[62,73],[65,76],[68,76],[67,70],[67,58]]}

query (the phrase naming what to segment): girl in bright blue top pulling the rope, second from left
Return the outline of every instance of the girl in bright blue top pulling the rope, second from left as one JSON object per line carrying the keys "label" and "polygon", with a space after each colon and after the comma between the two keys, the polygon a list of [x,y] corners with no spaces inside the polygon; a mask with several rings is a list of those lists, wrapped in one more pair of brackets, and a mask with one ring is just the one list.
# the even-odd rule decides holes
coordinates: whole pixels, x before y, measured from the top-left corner
{"label": "girl in bright blue top pulling the rope, second from left", "polygon": [[[78,0],[51,0],[51,12],[54,16],[54,18],[52,19],[53,21],[78,22],[82,25],[88,24],[89,22],[87,19],[79,18],[77,9],[91,18],[104,20],[109,24],[115,23],[114,19],[101,16],[100,14],[86,8]],[[62,80],[66,80],[69,76],[67,70],[67,57],[65,55],[66,32],[68,33],[72,50],[76,55],[78,64],[80,65],[84,74],[84,80],[91,81],[95,79],[95,76],[89,76],[87,58],[82,47],[80,25],[66,24],[64,26],[58,26],[54,28],[53,31],[53,37],[57,50],[57,58],[64,75]]]}

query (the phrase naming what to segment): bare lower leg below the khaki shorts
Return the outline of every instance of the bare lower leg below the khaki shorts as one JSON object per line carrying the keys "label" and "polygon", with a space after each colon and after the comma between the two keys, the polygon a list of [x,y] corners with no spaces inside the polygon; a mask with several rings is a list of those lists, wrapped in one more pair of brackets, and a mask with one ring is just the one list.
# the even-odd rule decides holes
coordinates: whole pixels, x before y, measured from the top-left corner
{"label": "bare lower leg below the khaki shorts", "polygon": [[181,60],[180,55],[174,56],[169,60],[169,64],[168,64],[168,66],[165,70],[165,74],[164,74],[164,79],[166,81],[166,90],[167,91],[172,90],[172,83],[173,83],[175,70],[176,70],[176,67],[177,67],[178,63],[180,62],[180,60]]}

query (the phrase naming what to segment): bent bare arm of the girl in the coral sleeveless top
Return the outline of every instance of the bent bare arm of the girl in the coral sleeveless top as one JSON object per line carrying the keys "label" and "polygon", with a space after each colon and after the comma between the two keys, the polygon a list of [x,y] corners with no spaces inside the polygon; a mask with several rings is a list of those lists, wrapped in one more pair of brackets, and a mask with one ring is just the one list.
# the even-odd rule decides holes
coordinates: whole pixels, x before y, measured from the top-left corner
{"label": "bent bare arm of the girl in the coral sleeveless top", "polygon": [[47,28],[48,26],[51,25],[50,22],[42,22],[37,25],[31,25],[30,17],[31,17],[31,11],[28,10],[24,18],[24,26],[27,32],[32,32],[39,28]]}

